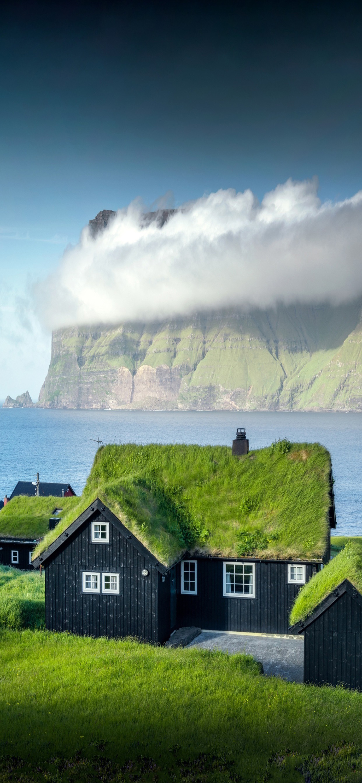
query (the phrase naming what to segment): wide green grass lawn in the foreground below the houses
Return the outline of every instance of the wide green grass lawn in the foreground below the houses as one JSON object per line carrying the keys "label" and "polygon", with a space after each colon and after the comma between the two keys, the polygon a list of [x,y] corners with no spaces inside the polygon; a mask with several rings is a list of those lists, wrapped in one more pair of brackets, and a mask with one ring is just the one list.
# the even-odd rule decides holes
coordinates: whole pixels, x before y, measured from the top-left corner
{"label": "wide green grass lawn in the foreground below the houses", "polygon": [[[0,754],[42,769],[82,760],[75,778],[51,781],[261,781],[276,752],[362,742],[362,695],[263,677],[244,655],[26,630],[1,631],[0,656]],[[84,760],[99,754],[115,777],[87,777]],[[183,777],[202,754],[206,777]],[[145,759],[147,774],[132,778]]]}

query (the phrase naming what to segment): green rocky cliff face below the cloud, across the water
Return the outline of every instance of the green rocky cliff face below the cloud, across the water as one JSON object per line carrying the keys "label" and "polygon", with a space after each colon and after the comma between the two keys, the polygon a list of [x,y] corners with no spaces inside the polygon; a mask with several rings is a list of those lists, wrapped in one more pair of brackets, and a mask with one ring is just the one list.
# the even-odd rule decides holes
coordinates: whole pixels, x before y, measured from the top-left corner
{"label": "green rocky cliff face below the cloud, across the water", "polygon": [[361,309],[280,305],[56,330],[38,404],[362,410]]}

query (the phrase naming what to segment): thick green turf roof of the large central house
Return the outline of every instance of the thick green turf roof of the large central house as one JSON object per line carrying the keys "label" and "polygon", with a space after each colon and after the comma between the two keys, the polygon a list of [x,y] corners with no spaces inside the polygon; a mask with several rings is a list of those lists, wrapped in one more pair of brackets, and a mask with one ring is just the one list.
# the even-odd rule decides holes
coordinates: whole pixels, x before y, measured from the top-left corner
{"label": "thick green turf roof of the large central house", "polygon": [[98,496],[159,561],[186,551],[316,559],[329,522],[329,453],[318,443],[237,459],[226,446],[103,446],[78,505],[41,554]]}

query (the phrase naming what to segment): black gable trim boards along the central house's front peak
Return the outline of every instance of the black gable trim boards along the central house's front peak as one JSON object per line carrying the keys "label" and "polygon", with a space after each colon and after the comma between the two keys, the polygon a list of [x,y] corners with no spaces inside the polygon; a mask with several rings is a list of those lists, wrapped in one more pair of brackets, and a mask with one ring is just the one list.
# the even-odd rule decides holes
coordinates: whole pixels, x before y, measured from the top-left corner
{"label": "black gable trim boards along the central house's front peak", "polygon": [[34,568],[38,568],[39,565],[46,566],[47,563],[52,560],[52,557],[56,555],[60,547],[63,547],[63,545],[67,543],[67,540],[70,539],[74,533],[78,532],[85,522],[92,521],[92,518],[99,513],[102,513],[107,521],[110,522],[110,525],[114,525],[114,527],[117,528],[119,532],[121,532],[122,536],[125,536],[125,538],[130,540],[133,547],[139,551],[139,554],[142,554],[143,557],[147,557],[149,560],[154,561],[154,566],[159,572],[164,574],[168,570],[164,565],[161,565],[161,563],[155,559],[154,554],[152,554],[152,552],[150,552],[147,547],[143,546],[143,543],[141,543],[139,539],[137,539],[136,536],[134,536],[133,533],[125,527],[125,525],[123,525],[121,520],[118,519],[118,517],[116,517],[115,514],[113,514],[112,511],[110,511],[110,509],[107,508],[107,506],[105,506],[99,498],[96,498],[96,500],[94,500],[93,503],[91,503],[89,507],[86,508],[77,519],[74,520],[74,522],[71,522],[71,525],[68,525],[68,527],[60,533],[60,535],[49,545],[45,552],[42,552],[42,554],[38,555],[38,557],[32,561]]}

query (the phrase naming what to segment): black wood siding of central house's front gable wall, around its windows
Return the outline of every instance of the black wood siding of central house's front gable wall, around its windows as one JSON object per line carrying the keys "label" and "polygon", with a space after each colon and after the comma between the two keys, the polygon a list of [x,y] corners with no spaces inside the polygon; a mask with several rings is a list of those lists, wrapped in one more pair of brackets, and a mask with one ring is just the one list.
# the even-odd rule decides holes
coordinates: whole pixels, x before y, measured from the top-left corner
{"label": "black wood siding of central house's front gable wall, around its windows", "polygon": [[[93,637],[164,641],[157,627],[161,575],[154,568],[154,557],[140,554],[131,536],[123,535],[111,522],[109,543],[92,543],[92,521],[108,520],[96,512],[45,566],[46,627]],[[142,576],[143,568],[148,576]],[[83,571],[118,573],[119,595],[83,593]],[[162,628],[161,635],[168,633],[165,623]]]}

